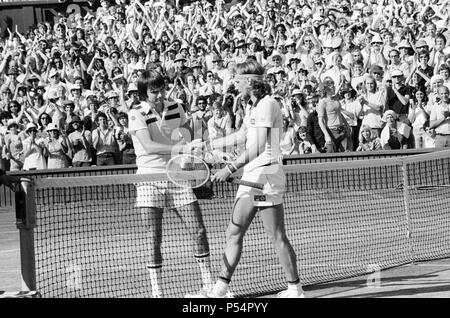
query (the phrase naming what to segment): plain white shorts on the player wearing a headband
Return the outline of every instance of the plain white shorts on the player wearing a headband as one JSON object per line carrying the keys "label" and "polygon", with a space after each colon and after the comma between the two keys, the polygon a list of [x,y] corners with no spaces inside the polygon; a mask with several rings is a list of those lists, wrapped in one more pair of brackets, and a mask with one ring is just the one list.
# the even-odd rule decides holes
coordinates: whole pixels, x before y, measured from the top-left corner
{"label": "plain white shorts on the player wearing a headband", "polygon": [[258,167],[249,172],[244,172],[242,180],[264,184],[264,189],[255,189],[240,185],[236,193],[239,198],[250,198],[254,206],[267,207],[283,203],[283,195],[286,191],[286,175],[281,165]]}

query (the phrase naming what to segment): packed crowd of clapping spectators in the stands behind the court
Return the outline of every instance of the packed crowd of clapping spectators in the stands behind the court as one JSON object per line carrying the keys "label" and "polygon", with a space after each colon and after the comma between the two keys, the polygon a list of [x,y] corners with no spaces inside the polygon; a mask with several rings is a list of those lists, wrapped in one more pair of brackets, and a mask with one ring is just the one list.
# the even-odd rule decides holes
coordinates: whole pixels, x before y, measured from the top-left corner
{"label": "packed crowd of clapping spectators in the stands behind the court", "polygon": [[0,168],[134,163],[128,111],[150,68],[194,139],[227,135],[244,120],[233,78],[247,59],[267,70],[286,155],[450,146],[450,1],[101,0],[94,12],[0,30]]}

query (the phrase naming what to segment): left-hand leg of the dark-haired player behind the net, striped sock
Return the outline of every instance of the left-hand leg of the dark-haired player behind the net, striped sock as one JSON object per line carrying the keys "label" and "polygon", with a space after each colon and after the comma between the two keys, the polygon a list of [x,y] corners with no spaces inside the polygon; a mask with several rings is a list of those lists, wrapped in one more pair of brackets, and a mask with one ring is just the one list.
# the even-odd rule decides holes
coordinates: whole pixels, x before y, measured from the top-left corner
{"label": "left-hand leg of the dark-haired player behind the net, striped sock", "polygon": [[147,229],[147,235],[149,236],[149,260],[147,263],[147,270],[150,274],[150,282],[152,285],[152,296],[154,298],[162,297],[161,292],[161,272],[162,272],[162,254],[161,254],[161,242],[162,242],[162,220],[163,220],[162,208],[143,207],[141,208],[142,221]]}

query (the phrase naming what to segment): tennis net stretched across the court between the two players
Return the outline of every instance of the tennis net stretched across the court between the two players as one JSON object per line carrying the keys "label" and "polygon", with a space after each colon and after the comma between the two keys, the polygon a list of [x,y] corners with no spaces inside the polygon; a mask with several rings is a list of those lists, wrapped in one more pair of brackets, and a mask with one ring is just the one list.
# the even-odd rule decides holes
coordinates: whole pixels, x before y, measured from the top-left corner
{"label": "tennis net stretched across the court between the two players", "polygon": [[[450,255],[450,151],[284,168],[287,233],[304,285]],[[162,176],[48,178],[30,185],[25,227],[32,235],[23,246],[31,249],[26,257],[33,266],[26,271],[44,297],[151,297],[152,242],[135,207],[136,183],[148,178]],[[215,196],[199,200],[214,275],[236,190],[214,184]],[[173,211],[164,212],[162,238],[164,296],[200,289],[192,240]],[[244,297],[284,288],[257,215],[231,289]]]}

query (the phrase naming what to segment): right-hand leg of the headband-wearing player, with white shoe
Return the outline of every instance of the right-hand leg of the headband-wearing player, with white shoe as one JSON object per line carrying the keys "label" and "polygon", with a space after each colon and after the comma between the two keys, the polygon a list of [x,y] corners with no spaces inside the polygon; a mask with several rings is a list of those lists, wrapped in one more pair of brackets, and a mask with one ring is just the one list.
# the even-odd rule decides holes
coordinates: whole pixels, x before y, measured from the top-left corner
{"label": "right-hand leg of the headband-wearing player, with white shoe", "polygon": [[279,297],[303,297],[297,270],[297,257],[286,235],[283,205],[264,207],[260,214],[288,281],[288,289],[280,293]]}

